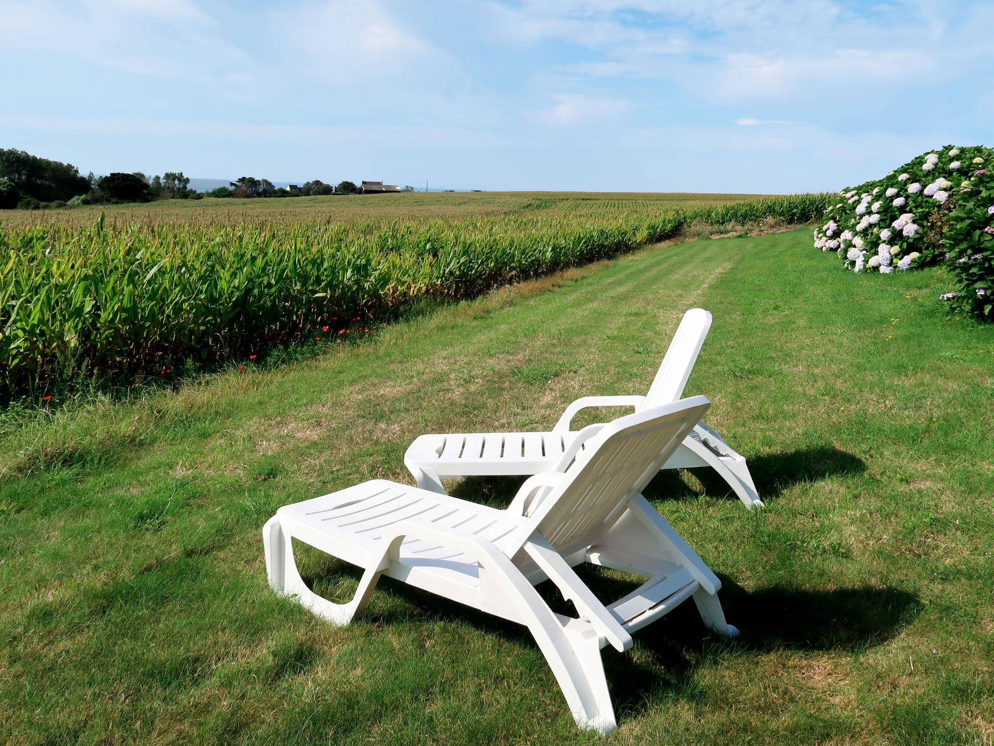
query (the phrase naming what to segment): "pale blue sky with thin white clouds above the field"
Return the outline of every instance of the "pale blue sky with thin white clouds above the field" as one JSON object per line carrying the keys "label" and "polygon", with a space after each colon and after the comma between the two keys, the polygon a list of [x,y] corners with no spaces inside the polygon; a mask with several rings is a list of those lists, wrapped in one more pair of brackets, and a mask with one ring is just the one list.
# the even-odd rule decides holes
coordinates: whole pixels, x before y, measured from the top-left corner
{"label": "pale blue sky with thin white clouds above the field", "polygon": [[0,147],[97,173],[792,192],[994,144],[994,2],[0,0]]}

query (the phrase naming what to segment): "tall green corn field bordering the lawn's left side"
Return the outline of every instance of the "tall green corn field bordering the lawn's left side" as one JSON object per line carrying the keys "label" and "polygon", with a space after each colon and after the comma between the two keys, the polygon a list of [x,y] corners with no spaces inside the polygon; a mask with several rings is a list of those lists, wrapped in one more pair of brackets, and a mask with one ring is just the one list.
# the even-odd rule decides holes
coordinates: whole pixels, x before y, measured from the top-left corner
{"label": "tall green corn field bordering the lawn's left side", "polygon": [[134,379],[261,354],[419,298],[468,297],[613,257],[691,223],[809,222],[828,199],[338,221],[22,214],[0,225],[0,395],[40,398],[57,373]]}

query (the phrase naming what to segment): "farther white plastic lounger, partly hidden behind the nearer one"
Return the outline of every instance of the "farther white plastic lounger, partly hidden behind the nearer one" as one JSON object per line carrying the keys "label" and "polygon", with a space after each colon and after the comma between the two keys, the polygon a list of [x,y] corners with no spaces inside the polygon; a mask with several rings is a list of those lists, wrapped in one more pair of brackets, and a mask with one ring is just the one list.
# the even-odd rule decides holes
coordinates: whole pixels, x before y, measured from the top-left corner
{"label": "farther white plastic lounger, partly hidden behind the nearer one", "polygon": [[[404,463],[417,486],[441,494],[443,476],[520,476],[548,471],[563,454],[576,453],[583,441],[603,425],[571,431],[573,418],[588,407],[634,407],[636,412],[675,402],[683,396],[704,338],[711,313],[691,308],[670,342],[646,396],[586,396],[563,413],[551,433],[470,433],[423,435],[408,448]],[[703,422],[690,432],[663,468],[711,466],[735,490],[745,507],[762,507],[745,458]]]}

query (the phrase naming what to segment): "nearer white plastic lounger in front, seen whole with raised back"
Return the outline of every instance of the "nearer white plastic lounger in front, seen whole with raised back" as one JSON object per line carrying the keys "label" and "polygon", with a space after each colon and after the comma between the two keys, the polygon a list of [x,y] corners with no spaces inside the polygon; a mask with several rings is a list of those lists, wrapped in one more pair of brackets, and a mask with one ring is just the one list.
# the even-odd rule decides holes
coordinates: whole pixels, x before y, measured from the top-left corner
{"label": "nearer white plastic lounger in front, seen whole with raised back", "polygon": [[[721,582],[640,494],[707,411],[703,396],[622,417],[587,442],[576,462],[528,479],[505,510],[376,479],[279,508],[262,529],[269,585],[314,614],[347,625],[387,574],[527,625],[580,727],[616,727],[600,649],[693,598],[723,636]],[[352,601],[333,604],[304,585],[291,539],[364,568]],[[604,605],[573,570],[580,562],[648,578]],[[552,580],[580,617],[554,613],[533,588]],[[458,654],[457,652],[453,652]]]}

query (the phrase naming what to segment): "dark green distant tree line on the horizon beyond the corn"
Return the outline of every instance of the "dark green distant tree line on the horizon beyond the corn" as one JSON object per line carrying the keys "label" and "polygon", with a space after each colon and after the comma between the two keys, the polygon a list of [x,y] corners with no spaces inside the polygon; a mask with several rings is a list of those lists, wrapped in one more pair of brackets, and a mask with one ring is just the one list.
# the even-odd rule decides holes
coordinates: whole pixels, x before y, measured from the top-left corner
{"label": "dark green distant tree line on the horizon beyond the corn", "polygon": [[[413,191],[413,188],[412,188]],[[310,197],[328,194],[359,194],[351,181],[337,186],[320,179],[308,181],[294,189],[276,187],[268,179],[243,176],[230,186],[218,187],[206,194],[190,188],[190,177],[182,171],[167,171],[161,176],[114,172],[99,178],[87,176],[72,163],[39,158],[24,150],[0,148],[0,210],[18,208],[38,210],[79,205],[151,202],[153,200],[194,199],[204,197]]]}

